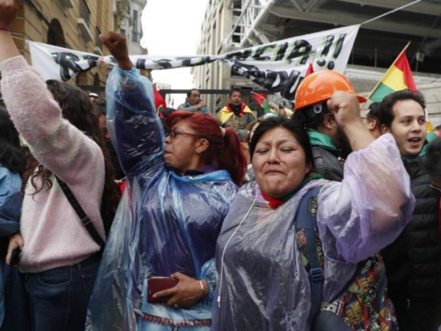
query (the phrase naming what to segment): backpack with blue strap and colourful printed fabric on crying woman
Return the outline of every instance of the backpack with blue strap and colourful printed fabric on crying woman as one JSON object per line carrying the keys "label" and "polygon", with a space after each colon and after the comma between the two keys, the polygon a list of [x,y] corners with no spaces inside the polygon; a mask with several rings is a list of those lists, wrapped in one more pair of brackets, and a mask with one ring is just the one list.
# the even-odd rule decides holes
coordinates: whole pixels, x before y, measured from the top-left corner
{"label": "backpack with blue strap and colourful printed fabric on crying woman", "polygon": [[393,305],[386,295],[386,269],[379,254],[359,263],[354,276],[335,299],[322,301],[325,259],[316,219],[320,188],[307,192],[295,216],[299,255],[311,284],[311,330],[398,330]]}

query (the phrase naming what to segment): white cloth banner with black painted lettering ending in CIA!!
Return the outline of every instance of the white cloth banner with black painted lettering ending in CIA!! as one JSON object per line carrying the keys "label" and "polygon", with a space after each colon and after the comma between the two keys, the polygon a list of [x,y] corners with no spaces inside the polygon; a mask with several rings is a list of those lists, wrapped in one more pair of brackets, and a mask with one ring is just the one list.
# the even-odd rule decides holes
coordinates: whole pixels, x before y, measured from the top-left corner
{"label": "white cloth banner with black painted lettering ending in CIA!!", "polygon": [[[192,67],[220,60],[234,73],[293,100],[310,63],[314,71],[329,69],[343,73],[359,27],[339,27],[221,55],[130,55],[130,60],[135,68],[152,70]],[[29,47],[32,66],[44,79],[66,81],[99,63],[115,64],[112,56],[35,42],[29,42]]]}

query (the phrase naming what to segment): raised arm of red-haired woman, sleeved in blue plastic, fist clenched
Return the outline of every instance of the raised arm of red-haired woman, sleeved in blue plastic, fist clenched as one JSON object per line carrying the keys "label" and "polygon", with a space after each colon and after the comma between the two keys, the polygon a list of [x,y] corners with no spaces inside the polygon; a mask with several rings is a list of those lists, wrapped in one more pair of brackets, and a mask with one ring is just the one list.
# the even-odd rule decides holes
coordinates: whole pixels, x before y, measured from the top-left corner
{"label": "raised arm of red-haired woman, sleeved in blue plastic, fist clenched", "polygon": [[121,166],[134,176],[163,162],[164,134],[150,80],[132,68],[124,35],[100,37],[118,62],[107,78],[107,129]]}

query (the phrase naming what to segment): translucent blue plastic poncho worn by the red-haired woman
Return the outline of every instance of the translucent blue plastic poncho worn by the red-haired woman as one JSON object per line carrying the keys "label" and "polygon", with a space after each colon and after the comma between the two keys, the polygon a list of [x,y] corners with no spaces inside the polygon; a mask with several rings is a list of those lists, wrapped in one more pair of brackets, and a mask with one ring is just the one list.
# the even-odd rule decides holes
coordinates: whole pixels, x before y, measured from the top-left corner
{"label": "translucent blue plastic poncho worn by the red-haired woman", "polygon": [[[127,187],[106,243],[86,330],[172,330],[165,324],[210,320],[216,239],[237,187],[225,170],[181,177],[167,168],[152,84],[137,70],[115,67],[106,98],[107,127]],[[206,279],[208,297],[185,309],[147,303],[147,279],[175,272]]]}

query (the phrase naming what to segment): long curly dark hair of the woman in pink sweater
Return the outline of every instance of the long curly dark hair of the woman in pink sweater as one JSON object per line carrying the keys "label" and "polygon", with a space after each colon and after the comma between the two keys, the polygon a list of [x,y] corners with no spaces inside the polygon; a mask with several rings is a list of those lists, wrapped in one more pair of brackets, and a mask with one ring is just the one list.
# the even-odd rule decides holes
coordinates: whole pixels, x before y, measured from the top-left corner
{"label": "long curly dark hair of the woman in pink sweater", "polygon": [[[121,198],[121,192],[115,183],[113,166],[104,143],[103,135],[98,126],[98,117],[94,106],[90,102],[87,94],[76,86],[57,80],[48,80],[46,84],[54,100],[58,102],[63,118],[95,141],[103,152],[105,181],[101,203],[101,216],[103,218],[105,232],[108,234]],[[44,187],[47,187],[48,190],[52,187],[52,181],[49,179],[51,174],[52,172],[49,169],[45,169],[41,164],[38,165],[37,170],[30,175],[30,183],[35,189],[33,195],[42,191]],[[37,177],[40,177],[43,182],[43,185],[40,187],[38,187],[35,182],[35,178]]]}

